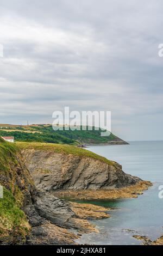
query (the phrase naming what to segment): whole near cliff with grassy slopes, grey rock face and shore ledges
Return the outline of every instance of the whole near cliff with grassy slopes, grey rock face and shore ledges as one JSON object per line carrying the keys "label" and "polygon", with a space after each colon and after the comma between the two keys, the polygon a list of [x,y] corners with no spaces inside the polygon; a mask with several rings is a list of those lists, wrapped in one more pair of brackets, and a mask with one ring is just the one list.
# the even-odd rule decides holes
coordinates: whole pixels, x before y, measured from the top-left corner
{"label": "whole near cliff with grassy slopes, grey rock face and shore ledges", "polygon": [[98,232],[87,218],[108,218],[110,209],[62,200],[60,192],[121,194],[126,189],[132,197],[150,185],[125,174],[120,164],[77,147],[0,139],[0,151],[2,245],[73,244],[83,232]]}

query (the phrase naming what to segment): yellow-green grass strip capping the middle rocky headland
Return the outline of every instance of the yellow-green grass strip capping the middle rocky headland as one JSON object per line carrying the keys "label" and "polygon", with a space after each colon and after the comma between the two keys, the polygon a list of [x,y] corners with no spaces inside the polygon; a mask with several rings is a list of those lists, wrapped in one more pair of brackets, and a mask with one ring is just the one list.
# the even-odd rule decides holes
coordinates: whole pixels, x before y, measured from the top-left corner
{"label": "yellow-green grass strip capping the middle rocky headland", "polygon": [[35,150],[47,150],[54,151],[55,153],[72,154],[82,157],[90,157],[92,159],[100,160],[107,164],[113,165],[114,162],[106,159],[103,156],[99,156],[89,150],[78,148],[67,144],[51,144],[51,143],[37,143],[37,142],[16,142],[16,145],[20,149],[35,149]]}

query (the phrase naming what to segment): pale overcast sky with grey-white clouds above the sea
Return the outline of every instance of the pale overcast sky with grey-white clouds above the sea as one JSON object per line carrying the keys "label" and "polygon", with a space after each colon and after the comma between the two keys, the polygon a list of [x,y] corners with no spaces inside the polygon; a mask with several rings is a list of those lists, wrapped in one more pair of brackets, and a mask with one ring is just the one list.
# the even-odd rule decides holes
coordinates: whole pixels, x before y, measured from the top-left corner
{"label": "pale overcast sky with grey-white clouds above the sea", "polygon": [[127,141],[162,140],[161,0],[0,0],[0,123],[111,111]]}

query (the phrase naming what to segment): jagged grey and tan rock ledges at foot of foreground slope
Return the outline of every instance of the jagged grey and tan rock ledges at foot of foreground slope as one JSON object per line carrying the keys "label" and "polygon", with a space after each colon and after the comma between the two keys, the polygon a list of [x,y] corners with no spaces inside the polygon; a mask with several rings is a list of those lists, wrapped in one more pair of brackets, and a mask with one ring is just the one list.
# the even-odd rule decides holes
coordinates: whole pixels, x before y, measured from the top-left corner
{"label": "jagged grey and tan rock ledges at foot of foreground slope", "polygon": [[24,208],[32,227],[26,243],[32,245],[76,244],[74,240],[82,233],[98,232],[87,218],[110,217],[106,208],[69,203],[51,193],[37,193],[34,202],[34,208],[31,205]]}

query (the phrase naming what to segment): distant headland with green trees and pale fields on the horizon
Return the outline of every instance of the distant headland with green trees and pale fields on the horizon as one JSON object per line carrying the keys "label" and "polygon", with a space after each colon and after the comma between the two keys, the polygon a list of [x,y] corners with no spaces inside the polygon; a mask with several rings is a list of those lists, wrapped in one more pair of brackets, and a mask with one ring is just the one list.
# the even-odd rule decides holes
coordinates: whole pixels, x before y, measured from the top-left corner
{"label": "distant headland with green trees and pale fields on the horizon", "polygon": [[128,144],[113,133],[109,136],[101,136],[103,130],[89,126],[74,126],[68,130],[54,131],[50,124],[33,124],[33,125],[10,125],[0,124],[0,136],[14,136],[16,141],[20,142],[47,142],[69,145],[115,145]]}

